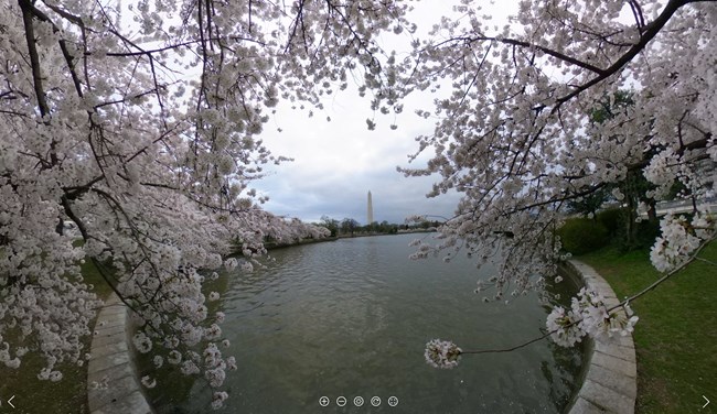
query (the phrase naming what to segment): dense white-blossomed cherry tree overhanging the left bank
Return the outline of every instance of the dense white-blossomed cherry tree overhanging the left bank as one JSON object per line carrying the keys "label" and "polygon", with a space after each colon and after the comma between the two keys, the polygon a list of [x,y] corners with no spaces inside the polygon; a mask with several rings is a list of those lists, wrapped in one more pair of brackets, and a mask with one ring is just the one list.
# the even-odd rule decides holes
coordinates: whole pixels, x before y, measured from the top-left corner
{"label": "dense white-blossomed cherry tree overhanging the left bank", "polygon": [[[0,362],[89,358],[93,261],[132,310],[133,344],[217,391],[222,314],[200,270],[240,265],[266,237],[325,229],[260,208],[250,185],[285,161],[260,139],[279,99],[307,108],[376,83],[394,1],[0,1]],[[396,29],[399,30],[399,29]],[[63,236],[74,222],[83,243]],[[243,259],[224,258],[233,241]],[[195,347],[202,344],[204,351]],[[226,345],[226,344],[225,344]],[[146,384],[154,384],[146,378]]]}

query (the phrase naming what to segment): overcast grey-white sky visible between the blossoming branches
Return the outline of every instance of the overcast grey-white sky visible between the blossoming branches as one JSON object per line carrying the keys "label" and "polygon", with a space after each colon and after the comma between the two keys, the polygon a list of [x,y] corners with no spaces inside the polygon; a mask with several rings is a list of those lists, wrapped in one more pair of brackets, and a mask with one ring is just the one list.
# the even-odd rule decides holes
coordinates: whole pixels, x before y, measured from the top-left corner
{"label": "overcast grey-white sky visible between the blossoming branches", "polygon": [[[500,25],[504,24],[505,14],[515,10],[507,1],[500,7],[483,3],[491,8],[493,20]],[[432,19],[450,13],[447,4],[450,2],[419,2],[421,9],[415,13],[416,23],[427,30],[437,22]],[[366,128],[366,118],[374,118],[370,100],[358,98],[351,90],[335,92],[324,101],[324,111],[314,110],[313,118],[280,105],[261,139],[275,155],[295,161],[269,167],[271,175],[254,184],[270,198],[264,208],[304,221],[319,221],[325,215],[338,220],[354,218],[363,225],[371,190],[375,221],[403,222],[411,215],[450,217],[458,195],[426,197],[437,176],[404,177],[396,171],[396,166],[409,166],[407,155],[417,149],[414,138],[430,133],[434,124],[432,120],[421,121],[414,113],[421,106],[430,109],[428,98],[422,102],[414,98],[404,103],[400,118],[375,115],[378,123],[375,131]],[[327,117],[331,117],[330,122]],[[398,128],[390,130],[394,121]]]}

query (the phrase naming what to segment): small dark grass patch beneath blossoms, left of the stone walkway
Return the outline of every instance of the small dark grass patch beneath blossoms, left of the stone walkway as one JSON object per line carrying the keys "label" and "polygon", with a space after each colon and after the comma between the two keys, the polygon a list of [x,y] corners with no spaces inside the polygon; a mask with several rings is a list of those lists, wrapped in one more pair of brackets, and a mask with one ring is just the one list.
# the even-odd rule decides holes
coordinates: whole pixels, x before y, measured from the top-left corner
{"label": "small dark grass patch beneath blossoms, left of the stone walkway", "polygon": [[[95,265],[87,261],[82,265],[86,283],[95,285],[95,293],[107,297],[110,287],[101,279]],[[89,351],[92,337],[84,340],[85,349]],[[44,360],[35,352],[29,352],[19,369],[12,370],[0,364],[0,413],[88,413],[87,408],[87,363],[83,367],[75,364],[58,364],[63,379],[58,382],[40,381],[38,373],[44,367]],[[12,410],[7,405],[12,395]]]}

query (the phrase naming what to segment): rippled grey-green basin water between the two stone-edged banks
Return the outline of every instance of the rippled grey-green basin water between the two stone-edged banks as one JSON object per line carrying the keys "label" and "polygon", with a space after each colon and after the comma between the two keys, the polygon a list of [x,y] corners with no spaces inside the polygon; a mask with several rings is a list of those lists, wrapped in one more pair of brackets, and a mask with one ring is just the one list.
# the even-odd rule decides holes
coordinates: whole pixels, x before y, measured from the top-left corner
{"label": "rippled grey-green basin water between the two stone-edged banks", "polygon": [[[563,412],[579,383],[580,349],[542,340],[507,353],[463,356],[452,370],[425,362],[432,338],[463,349],[527,341],[542,334],[548,309],[537,294],[507,305],[483,303],[473,290],[490,270],[463,258],[413,261],[408,243],[418,237],[426,235],[275,250],[276,262],[265,269],[229,274],[218,307],[232,342],[223,351],[236,356],[238,371],[227,375],[229,399],[221,412]],[[158,389],[159,413],[211,410],[204,381],[184,388],[160,381]],[[357,396],[362,406],[354,404]],[[388,405],[390,396],[398,405]]]}

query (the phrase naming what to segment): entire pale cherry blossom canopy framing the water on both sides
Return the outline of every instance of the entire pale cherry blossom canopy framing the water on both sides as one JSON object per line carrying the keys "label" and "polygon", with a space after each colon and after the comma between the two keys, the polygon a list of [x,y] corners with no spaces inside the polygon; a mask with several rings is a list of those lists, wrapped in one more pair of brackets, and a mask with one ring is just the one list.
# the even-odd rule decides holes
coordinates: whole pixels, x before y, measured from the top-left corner
{"label": "entire pale cherry blossom canopy framing the water on both sides", "polygon": [[[222,315],[207,314],[216,295],[204,296],[199,271],[250,268],[267,236],[321,232],[264,211],[250,184],[283,161],[261,141],[276,103],[321,108],[350,81],[384,113],[434,90],[417,115],[436,128],[417,138],[414,160],[434,153],[403,171],[438,174],[431,196],[463,198],[440,244],[418,255],[500,251],[494,298],[554,274],[554,229],[571,200],[630,172],[655,186],[651,198],[675,182],[704,195],[697,164],[717,161],[714,2],[522,1],[509,24],[491,28],[461,1],[462,18],[426,39],[408,9],[399,0],[1,0],[0,362],[41,352],[40,377],[54,380],[58,362],[85,358],[79,338],[99,304],[78,263],[92,260],[135,312],[137,348],[220,389],[234,363],[216,347]],[[411,36],[411,53],[381,50],[381,33]],[[610,117],[590,122],[622,90],[633,105],[610,105]],[[62,235],[66,220],[82,246]],[[656,241],[653,262],[670,269],[714,238],[715,225],[697,214],[663,228],[671,238]],[[224,260],[234,239],[244,259]],[[192,348],[200,342],[204,355]],[[216,406],[225,397],[217,391]]]}

